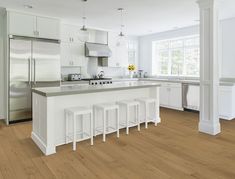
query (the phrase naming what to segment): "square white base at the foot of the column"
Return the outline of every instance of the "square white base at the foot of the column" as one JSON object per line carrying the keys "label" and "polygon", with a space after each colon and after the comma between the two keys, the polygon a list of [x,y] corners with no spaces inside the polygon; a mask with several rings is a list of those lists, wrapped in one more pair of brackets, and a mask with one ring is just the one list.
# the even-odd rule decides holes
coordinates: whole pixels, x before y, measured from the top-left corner
{"label": "square white base at the foot of the column", "polygon": [[203,132],[210,135],[217,135],[221,132],[220,123],[211,124],[208,122],[199,122],[198,125],[199,132]]}

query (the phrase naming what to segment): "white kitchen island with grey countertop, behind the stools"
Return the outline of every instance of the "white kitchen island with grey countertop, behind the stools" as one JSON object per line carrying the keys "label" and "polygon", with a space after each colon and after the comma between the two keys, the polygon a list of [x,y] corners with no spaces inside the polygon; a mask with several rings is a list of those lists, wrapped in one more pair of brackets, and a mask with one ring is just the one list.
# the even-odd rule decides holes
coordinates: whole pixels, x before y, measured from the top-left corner
{"label": "white kitchen island with grey countertop, behind the stools", "polygon": [[[98,86],[73,85],[33,89],[32,139],[45,155],[56,153],[56,146],[65,144],[65,108],[92,106],[107,102],[115,103],[120,100],[142,97],[156,98],[156,110],[153,108],[152,113],[157,113],[159,123],[159,87],[160,84],[156,82],[137,81]],[[143,115],[141,115],[144,112],[143,109],[143,107],[140,108],[140,120],[142,122],[144,122]],[[134,114],[131,117],[133,116]],[[111,123],[112,118],[113,116],[110,114]],[[123,120],[125,120],[125,115],[121,113],[120,121]],[[72,129],[71,125],[70,129]],[[79,129],[81,124],[78,123],[77,125]],[[98,125],[101,125],[101,123]],[[89,125],[86,127],[89,131]]]}

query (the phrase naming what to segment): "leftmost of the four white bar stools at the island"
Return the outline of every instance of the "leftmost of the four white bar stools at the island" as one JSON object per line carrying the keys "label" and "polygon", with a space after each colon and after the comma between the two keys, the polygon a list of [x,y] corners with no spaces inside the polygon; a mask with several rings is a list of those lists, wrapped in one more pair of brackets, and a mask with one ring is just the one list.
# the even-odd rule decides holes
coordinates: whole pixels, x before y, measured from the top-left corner
{"label": "leftmost of the four white bar stools at the island", "polygon": [[[84,115],[90,115],[90,134],[84,132]],[[69,135],[69,118],[72,117],[73,121],[73,133],[72,137]],[[81,118],[80,118],[81,117]],[[81,120],[82,131],[77,132],[77,120]],[[76,150],[77,135],[88,136],[91,139],[91,145],[93,145],[93,110],[89,107],[72,107],[65,109],[65,143],[69,142],[69,138],[73,141],[73,150]]]}

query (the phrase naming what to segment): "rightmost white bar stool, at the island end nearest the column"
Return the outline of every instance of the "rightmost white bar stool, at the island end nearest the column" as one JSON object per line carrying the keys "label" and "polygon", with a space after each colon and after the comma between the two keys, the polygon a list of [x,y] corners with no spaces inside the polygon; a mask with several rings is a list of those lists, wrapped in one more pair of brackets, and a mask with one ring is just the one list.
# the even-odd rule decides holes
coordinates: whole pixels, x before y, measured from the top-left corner
{"label": "rightmost white bar stool, at the island end nearest the column", "polygon": [[[145,110],[145,128],[148,128],[148,122],[150,122],[148,119],[150,119],[152,122],[155,123],[155,126],[157,126],[157,111],[156,111],[156,107],[157,107],[157,101],[154,98],[138,98],[136,99],[136,101],[139,101],[140,103],[142,103],[144,105],[144,110]],[[150,114],[149,114],[149,106],[150,104],[154,105],[154,116],[153,118],[151,118]]]}

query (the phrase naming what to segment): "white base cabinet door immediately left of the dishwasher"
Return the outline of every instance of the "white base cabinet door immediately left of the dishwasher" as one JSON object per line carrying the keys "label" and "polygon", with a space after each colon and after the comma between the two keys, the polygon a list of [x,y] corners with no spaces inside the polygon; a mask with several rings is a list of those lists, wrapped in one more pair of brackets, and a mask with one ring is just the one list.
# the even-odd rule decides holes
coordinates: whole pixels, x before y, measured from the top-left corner
{"label": "white base cabinet door immediately left of the dishwasher", "polygon": [[169,87],[169,106],[176,109],[182,109],[182,88]]}

